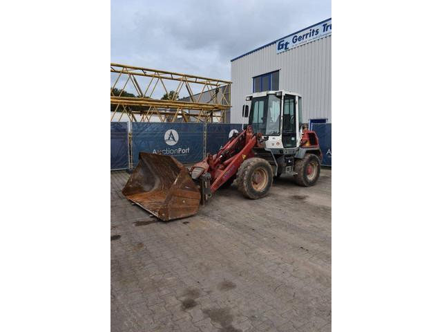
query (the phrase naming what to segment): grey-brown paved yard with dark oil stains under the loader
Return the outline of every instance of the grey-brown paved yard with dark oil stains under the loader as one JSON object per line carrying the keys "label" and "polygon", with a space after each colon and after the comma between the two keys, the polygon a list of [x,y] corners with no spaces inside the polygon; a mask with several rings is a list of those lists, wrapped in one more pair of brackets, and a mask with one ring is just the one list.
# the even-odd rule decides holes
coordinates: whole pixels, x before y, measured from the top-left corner
{"label": "grey-brown paved yard with dark oil stains under the loader", "polygon": [[269,196],[233,185],[196,216],[164,223],[111,172],[112,331],[330,331],[332,171],[290,176]]}

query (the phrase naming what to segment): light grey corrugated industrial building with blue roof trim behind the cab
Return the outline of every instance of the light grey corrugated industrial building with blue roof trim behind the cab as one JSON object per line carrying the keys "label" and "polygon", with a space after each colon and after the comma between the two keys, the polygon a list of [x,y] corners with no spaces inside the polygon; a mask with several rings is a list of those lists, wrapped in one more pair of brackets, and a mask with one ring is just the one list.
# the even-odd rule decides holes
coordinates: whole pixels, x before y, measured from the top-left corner
{"label": "light grey corrugated industrial building with blue roof trim behind the cab", "polygon": [[283,89],[302,95],[303,122],[332,122],[332,19],[231,59],[231,123],[245,96]]}

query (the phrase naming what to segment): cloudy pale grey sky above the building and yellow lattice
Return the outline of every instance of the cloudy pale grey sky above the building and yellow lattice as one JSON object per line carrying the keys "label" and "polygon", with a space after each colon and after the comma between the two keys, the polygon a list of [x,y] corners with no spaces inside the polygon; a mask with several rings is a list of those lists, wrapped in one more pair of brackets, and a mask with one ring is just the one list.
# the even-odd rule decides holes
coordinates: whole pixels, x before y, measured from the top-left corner
{"label": "cloudy pale grey sky above the building and yellow lattice", "polygon": [[332,17],[331,0],[111,0],[111,62],[230,80],[230,60]]}

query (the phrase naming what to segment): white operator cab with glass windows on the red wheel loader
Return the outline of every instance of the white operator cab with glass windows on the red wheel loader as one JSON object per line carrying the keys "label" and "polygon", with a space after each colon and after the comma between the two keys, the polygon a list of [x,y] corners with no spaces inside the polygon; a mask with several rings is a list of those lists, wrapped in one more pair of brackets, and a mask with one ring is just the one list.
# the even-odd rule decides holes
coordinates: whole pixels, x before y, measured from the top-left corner
{"label": "white operator cab with glass windows on the red wheel loader", "polygon": [[254,133],[262,133],[269,149],[299,147],[302,136],[302,96],[285,90],[264,91],[246,97],[243,108]]}

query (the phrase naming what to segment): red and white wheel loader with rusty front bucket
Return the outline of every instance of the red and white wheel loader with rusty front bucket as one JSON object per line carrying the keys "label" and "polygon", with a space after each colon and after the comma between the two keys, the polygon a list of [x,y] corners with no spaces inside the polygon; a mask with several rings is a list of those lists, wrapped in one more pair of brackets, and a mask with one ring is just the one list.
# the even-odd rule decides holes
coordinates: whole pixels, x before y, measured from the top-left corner
{"label": "red and white wheel loader with rusty front bucket", "polygon": [[127,199],[163,221],[192,216],[220,187],[236,179],[247,199],[269,193],[273,177],[291,174],[298,185],[318,181],[323,158],[318,136],[302,127],[302,96],[289,91],[248,95],[242,117],[248,119],[217,154],[188,170],[172,156],[140,152],[126,183]]}

